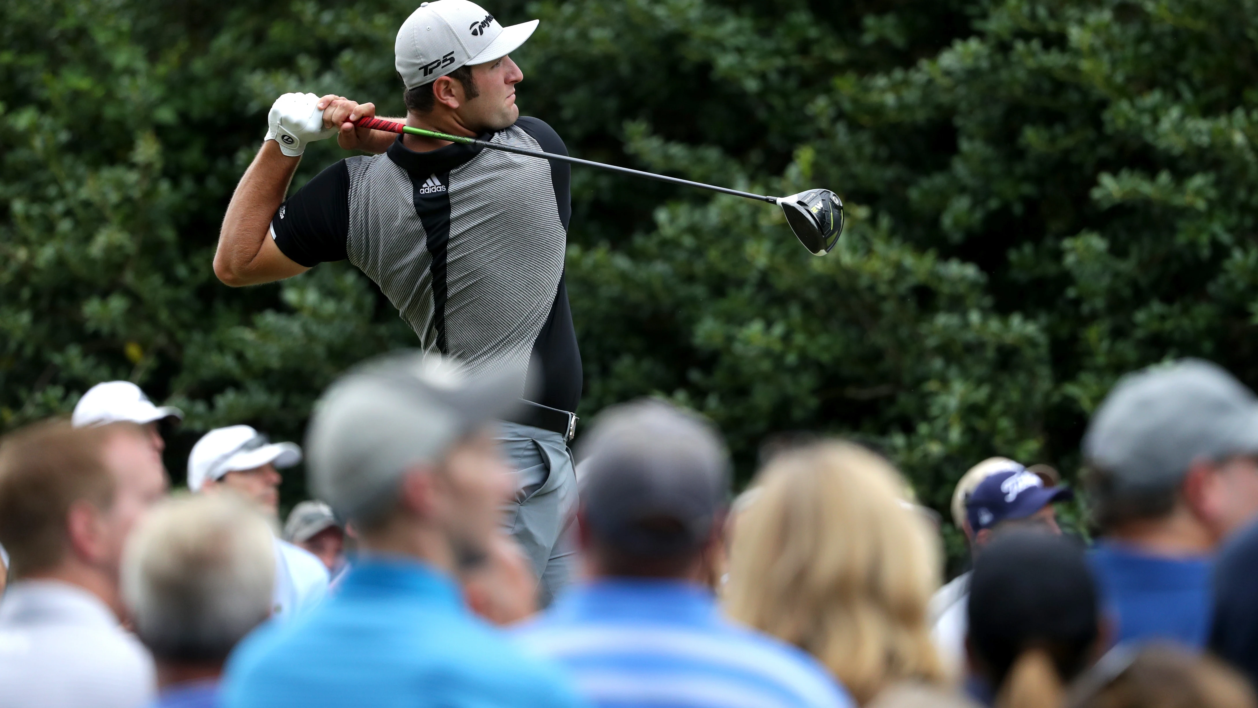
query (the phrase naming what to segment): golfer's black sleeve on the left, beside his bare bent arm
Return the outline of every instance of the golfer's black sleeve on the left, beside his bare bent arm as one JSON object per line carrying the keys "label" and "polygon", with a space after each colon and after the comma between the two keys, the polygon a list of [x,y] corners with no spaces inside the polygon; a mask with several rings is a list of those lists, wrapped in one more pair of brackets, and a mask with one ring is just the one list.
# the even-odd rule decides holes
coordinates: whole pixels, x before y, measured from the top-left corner
{"label": "golfer's black sleeve on the left, beside his bare bent arm", "polygon": [[279,205],[270,219],[279,250],[307,268],[345,260],[350,236],[350,169],[345,160],[323,170]]}

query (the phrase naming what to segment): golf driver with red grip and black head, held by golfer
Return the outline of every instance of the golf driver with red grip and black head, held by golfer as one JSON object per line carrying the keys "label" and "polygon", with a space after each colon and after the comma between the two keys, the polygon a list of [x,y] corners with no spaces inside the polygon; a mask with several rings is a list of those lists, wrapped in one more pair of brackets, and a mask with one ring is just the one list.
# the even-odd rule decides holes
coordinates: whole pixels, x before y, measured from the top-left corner
{"label": "golf driver with red grip and black head, held by golfer", "polygon": [[483,140],[477,140],[465,136],[452,136],[437,131],[425,131],[423,128],[404,126],[403,123],[398,123],[395,121],[382,121],[380,118],[360,118],[355,124],[362,126],[365,128],[371,128],[374,131],[385,131],[390,133],[410,133],[414,136],[445,140],[449,142],[458,142],[462,145],[477,145],[481,147],[488,147],[489,150],[501,150],[504,152],[515,152],[517,155],[530,155],[532,157],[541,157],[542,160],[562,160],[564,162],[571,162],[574,165],[587,165],[590,167],[599,167],[600,170],[610,170],[613,172],[620,172],[621,175],[634,175],[637,177],[647,177],[649,180],[659,180],[662,182],[672,182],[674,185],[686,185],[691,187],[718,191],[721,194],[732,194],[733,196],[742,196],[746,199],[767,201],[769,204],[776,204],[777,206],[782,207],[782,213],[786,215],[786,224],[790,225],[790,230],[795,233],[795,238],[799,239],[799,243],[804,244],[804,248],[806,248],[813,255],[825,255],[827,253],[830,253],[830,250],[834,248],[834,244],[838,243],[839,235],[843,233],[843,201],[839,199],[839,195],[834,194],[830,190],[808,190],[808,191],[801,191],[799,194],[793,194],[790,196],[766,196],[746,191],[731,190],[728,187],[704,185],[703,182],[692,182],[691,180],[682,180],[678,177],[654,175],[652,172],[630,170],[628,167],[616,167],[615,165],[604,165],[603,162],[581,160],[579,157],[569,157],[567,155],[555,155],[554,152],[545,152],[541,150],[528,150],[525,147],[499,145],[496,142],[487,142]]}

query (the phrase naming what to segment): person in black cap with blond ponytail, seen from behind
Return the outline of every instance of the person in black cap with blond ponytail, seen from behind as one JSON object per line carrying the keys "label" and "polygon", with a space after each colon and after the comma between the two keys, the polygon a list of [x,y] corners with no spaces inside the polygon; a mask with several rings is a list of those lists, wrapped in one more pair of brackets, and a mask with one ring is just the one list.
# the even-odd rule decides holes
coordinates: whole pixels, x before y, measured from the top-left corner
{"label": "person in black cap with blond ponytail, seen from behind", "polygon": [[1043,531],[1004,532],[977,555],[969,615],[969,687],[985,705],[1058,708],[1105,644],[1083,550]]}

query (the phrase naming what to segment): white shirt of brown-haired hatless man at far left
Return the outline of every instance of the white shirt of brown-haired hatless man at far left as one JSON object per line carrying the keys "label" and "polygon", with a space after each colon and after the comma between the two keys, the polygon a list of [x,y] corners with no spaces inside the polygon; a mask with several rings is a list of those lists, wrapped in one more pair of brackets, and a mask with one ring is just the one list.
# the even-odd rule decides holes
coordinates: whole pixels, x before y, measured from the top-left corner
{"label": "white shirt of brown-haired hatless man at far left", "polygon": [[5,591],[4,708],[140,708],[155,689],[148,651],[96,595],[52,580],[20,580]]}

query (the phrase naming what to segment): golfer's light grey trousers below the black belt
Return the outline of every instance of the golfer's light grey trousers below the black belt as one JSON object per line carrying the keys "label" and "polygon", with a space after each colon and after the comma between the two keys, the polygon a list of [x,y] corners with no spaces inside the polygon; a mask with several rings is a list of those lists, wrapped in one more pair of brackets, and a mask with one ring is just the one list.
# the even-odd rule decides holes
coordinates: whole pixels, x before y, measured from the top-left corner
{"label": "golfer's light grey trousers below the black belt", "polygon": [[499,423],[498,445],[516,470],[516,498],[503,514],[506,529],[532,561],[545,607],[571,582],[576,566],[576,470],[559,433]]}

